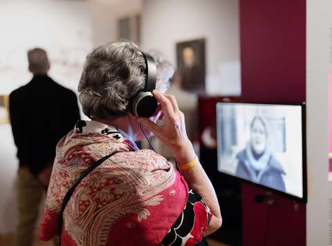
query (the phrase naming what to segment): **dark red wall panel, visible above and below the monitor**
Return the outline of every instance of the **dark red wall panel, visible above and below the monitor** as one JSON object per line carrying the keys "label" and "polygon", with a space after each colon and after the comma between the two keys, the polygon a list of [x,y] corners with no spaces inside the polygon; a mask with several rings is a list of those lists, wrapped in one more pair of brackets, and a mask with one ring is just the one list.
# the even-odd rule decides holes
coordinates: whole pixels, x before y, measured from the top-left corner
{"label": "dark red wall panel, visible above and below the monitor", "polygon": [[[241,80],[244,100],[306,100],[306,0],[240,0]],[[306,206],[242,185],[243,245],[306,245]]]}

